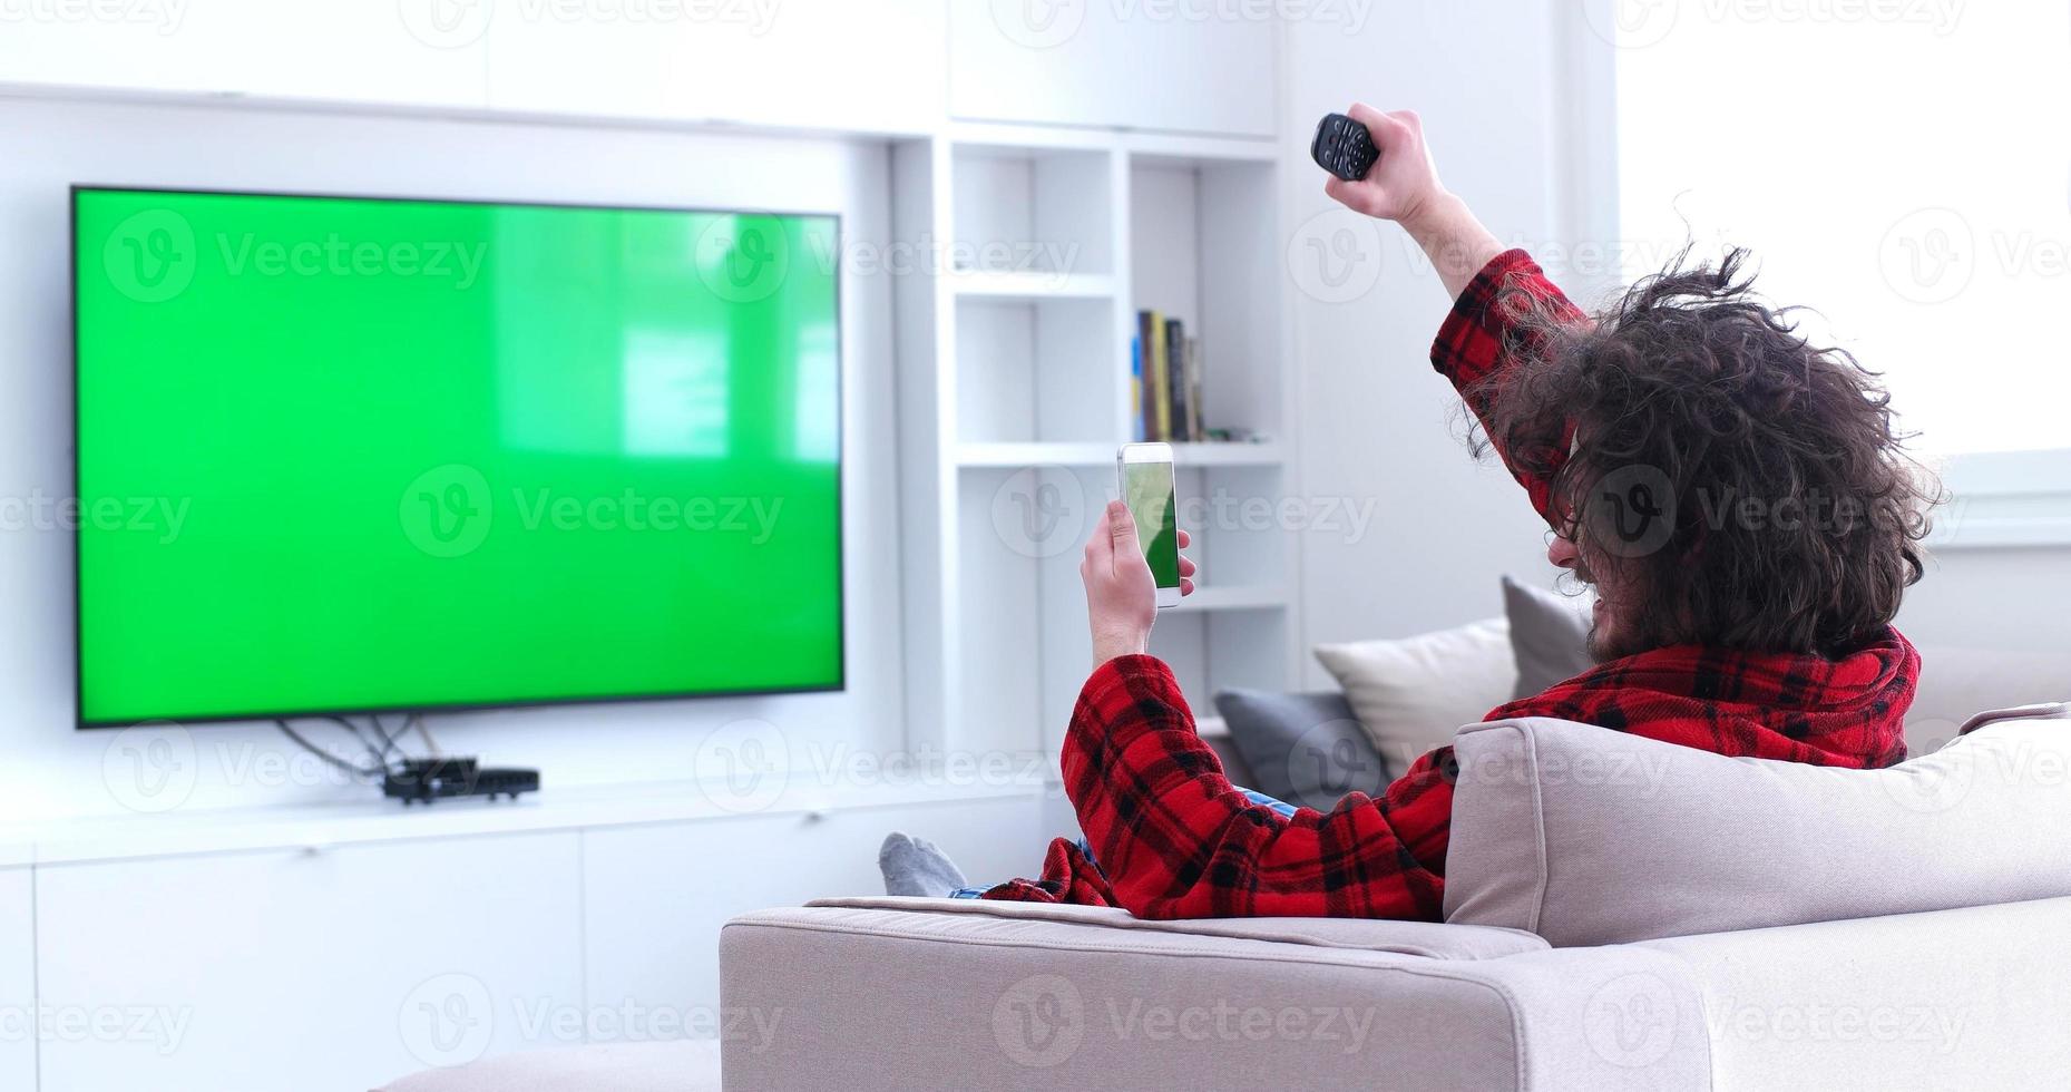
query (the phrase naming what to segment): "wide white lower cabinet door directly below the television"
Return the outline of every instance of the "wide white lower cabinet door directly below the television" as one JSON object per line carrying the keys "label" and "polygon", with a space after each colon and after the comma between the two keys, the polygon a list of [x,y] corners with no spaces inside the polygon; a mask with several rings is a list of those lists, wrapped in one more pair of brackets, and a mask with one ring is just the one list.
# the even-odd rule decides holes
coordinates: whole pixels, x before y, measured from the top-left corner
{"label": "wide white lower cabinet door directly below the television", "polygon": [[72,1022],[41,1092],[364,1092],[580,1040],[578,877],[576,833],[39,866]]}

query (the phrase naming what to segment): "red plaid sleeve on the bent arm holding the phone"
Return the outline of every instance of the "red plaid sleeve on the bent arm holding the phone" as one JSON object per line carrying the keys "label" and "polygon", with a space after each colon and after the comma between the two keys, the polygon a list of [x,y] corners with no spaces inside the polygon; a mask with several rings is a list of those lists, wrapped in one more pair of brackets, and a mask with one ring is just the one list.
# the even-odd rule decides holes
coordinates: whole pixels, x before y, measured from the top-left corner
{"label": "red plaid sleeve on the bent arm holding the phone", "polygon": [[1452,748],[1379,800],[1282,816],[1251,804],[1195,736],[1172,671],[1118,657],[1079,692],[1064,792],[1116,901],[1139,918],[1439,920]]}

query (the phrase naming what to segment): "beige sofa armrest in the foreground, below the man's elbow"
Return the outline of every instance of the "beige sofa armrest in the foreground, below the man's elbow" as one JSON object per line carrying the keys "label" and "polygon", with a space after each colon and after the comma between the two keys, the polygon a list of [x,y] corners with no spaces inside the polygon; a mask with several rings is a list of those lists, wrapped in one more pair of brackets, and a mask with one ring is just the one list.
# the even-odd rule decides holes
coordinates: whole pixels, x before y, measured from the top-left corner
{"label": "beige sofa armrest in the foreground, below the man's elbow", "polygon": [[1698,990],[1659,951],[1431,957],[920,906],[729,922],[723,1007],[766,1034],[723,1044],[725,1086],[1709,1084]]}

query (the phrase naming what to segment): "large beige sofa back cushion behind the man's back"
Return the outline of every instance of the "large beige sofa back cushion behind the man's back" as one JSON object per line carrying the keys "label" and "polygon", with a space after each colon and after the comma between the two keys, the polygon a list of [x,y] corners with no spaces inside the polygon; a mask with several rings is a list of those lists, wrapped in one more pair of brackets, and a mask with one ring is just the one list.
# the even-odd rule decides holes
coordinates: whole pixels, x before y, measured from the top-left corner
{"label": "large beige sofa back cushion behind the man's back", "polygon": [[1466,727],[1454,754],[1446,920],[1555,947],[2071,895],[2063,717],[1885,771],[1539,717]]}

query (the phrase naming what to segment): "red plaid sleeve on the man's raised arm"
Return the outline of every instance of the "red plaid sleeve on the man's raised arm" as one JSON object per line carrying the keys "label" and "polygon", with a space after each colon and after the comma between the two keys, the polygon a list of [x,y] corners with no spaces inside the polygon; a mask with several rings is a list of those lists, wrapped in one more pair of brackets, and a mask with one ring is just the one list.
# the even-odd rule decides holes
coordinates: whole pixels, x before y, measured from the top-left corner
{"label": "red plaid sleeve on the man's raised arm", "polygon": [[[1547,280],[1545,269],[1530,255],[1524,251],[1504,251],[1489,259],[1460,292],[1460,298],[1454,300],[1452,315],[1446,317],[1437,340],[1431,342],[1431,367],[1446,379],[1452,379],[1454,390],[1460,392],[1460,398],[1466,400],[1466,406],[1487,431],[1489,443],[1495,446],[1495,454],[1501,456],[1504,466],[1530,493],[1539,516],[1557,530],[1562,518],[1549,506],[1551,481],[1537,472],[1520,470],[1518,460],[1506,448],[1506,437],[1495,435],[1495,429],[1489,427],[1489,404],[1493,400],[1489,387],[1497,385],[1508,369],[1528,358],[1543,342],[1543,336],[1537,334],[1541,325],[1526,323],[1526,317],[1535,317],[1537,323],[1588,321]],[[1526,443],[1537,448],[1535,462],[1555,468],[1568,458],[1570,439],[1572,429],[1564,429],[1562,435],[1524,437]]]}

